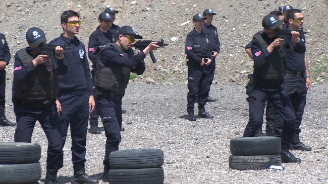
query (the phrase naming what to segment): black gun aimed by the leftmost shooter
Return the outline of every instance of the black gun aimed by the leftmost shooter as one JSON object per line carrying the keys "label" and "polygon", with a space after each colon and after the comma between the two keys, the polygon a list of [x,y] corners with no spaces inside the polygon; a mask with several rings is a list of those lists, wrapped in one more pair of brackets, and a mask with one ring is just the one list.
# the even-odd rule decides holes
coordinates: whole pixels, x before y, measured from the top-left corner
{"label": "black gun aimed by the leftmost shooter", "polygon": [[[70,50],[71,47],[68,47],[67,45],[59,45],[60,47],[62,47],[64,50]],[[43,44],[37,48],[26,48],[26,50],[38,50],[40,53],[44,54],[44,55],[48,55],[49,59],[52,59],[52,62],[54,64],[55,68],[58,68],[58,64],[57,64],[57,59],[56,59],[56,52],[54,52],[56,50],[57,45],[55,44]]]}

